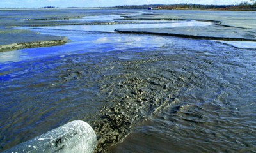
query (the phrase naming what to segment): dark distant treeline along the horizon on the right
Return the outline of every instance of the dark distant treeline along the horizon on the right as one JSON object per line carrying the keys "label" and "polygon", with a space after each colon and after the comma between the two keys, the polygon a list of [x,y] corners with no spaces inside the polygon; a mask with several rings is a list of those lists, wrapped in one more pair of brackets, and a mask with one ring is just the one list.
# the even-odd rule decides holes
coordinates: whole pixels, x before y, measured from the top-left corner
{"label": "dark distant treeline along the horizon on the right", "polygon": [[202,4],[149,4],[149,5],[122,5],[115,6],[115,8],[133,8],[133,9],[225,9],[225,8],[256,8],[256,3],[242,2],[234,5],[202,5]]}

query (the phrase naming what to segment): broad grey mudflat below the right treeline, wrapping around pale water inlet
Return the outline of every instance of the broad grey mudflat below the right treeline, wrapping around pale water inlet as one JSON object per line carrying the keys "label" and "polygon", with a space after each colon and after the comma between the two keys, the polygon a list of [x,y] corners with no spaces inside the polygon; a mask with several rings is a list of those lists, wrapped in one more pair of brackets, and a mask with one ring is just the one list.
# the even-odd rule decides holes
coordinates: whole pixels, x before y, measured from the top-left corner
{"label": "broad grey mudflat below the right treeline, wrapping around pale water inlet", "polygon": [[227,11],[220,15],[221,11],[169,11],[156,15],[142,15],[131,17],[131,20],[197,20],[214,22],[207,27],[170,27],[170,28],[141,28],[141,29],[116,29],[119,33],[144,33],[166,36],[179,36],[184,38],[197,38],[209,40],[227,41],[256,41],[256,18],[241,15],[239,11]]}

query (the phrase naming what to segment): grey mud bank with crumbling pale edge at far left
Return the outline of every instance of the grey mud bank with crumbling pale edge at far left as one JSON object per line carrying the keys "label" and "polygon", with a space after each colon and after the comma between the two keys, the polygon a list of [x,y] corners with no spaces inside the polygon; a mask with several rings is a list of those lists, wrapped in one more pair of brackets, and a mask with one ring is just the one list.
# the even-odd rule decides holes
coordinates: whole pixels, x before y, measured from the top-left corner
{"label": "grey mud bank with crumbling pale edge at far left", "polygon": [[4,29],[0,31],[0,52],[63,45],[67,41],[65,36],[51,36],[28,30]]}

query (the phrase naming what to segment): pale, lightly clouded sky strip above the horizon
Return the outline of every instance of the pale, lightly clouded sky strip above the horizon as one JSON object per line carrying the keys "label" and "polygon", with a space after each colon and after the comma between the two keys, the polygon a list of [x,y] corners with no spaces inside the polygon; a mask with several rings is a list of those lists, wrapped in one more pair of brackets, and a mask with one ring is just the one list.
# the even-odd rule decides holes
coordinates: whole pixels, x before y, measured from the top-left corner
{"label": "pale, lightly clouded sky strip above the horizon", "polygon": [[0,0],[0,8],[97,7],[129,4],[236,4],[242,0]]}

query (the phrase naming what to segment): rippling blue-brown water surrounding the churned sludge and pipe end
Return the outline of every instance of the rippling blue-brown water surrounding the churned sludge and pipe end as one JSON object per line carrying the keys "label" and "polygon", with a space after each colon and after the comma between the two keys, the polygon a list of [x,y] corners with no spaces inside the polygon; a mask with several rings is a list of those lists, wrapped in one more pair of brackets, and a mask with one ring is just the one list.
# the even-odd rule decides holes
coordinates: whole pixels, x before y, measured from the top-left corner
{"label": "rippling blue-brown water surrounding the churned sludge and pipe end", "polygon": [[[256,152],[255,50],[61,29],[35,30],[67,36],[65,45],[0,53],[0,150],[71,120],[96,126],[106,100],[127,94],[145,107],[170,99],[158,113],[138,107],[147,120],[109,152]],[[117,89],[131,78],[131,91]]]}

